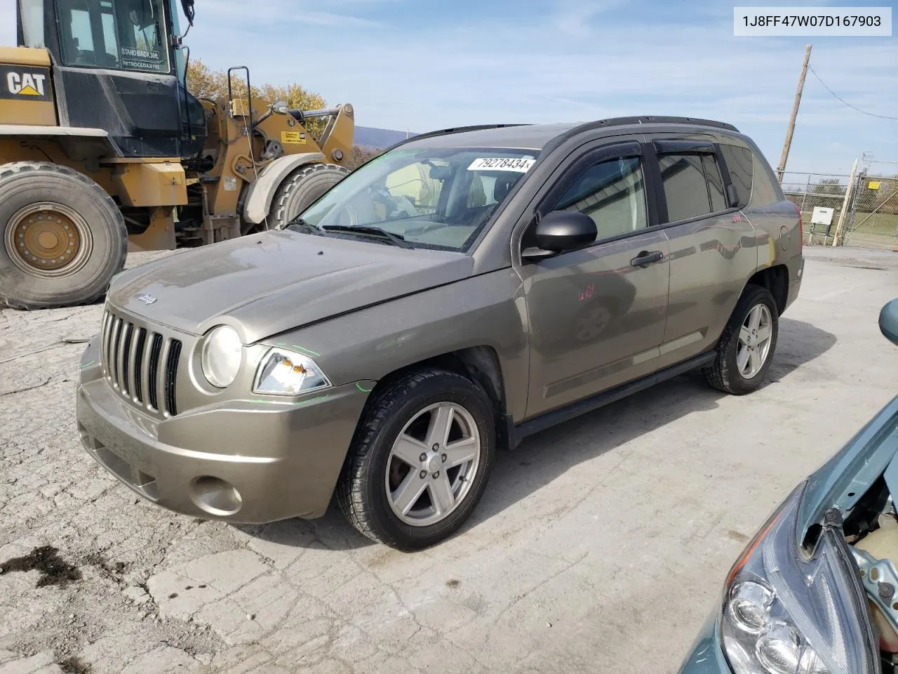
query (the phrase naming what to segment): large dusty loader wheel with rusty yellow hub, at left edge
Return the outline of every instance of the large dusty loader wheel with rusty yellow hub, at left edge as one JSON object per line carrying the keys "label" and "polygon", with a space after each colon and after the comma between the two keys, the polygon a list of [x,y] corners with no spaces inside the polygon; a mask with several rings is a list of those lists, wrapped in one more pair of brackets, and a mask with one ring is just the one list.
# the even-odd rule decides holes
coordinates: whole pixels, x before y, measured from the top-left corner
{"label": "large dusty loader wheel with rusty yellow hub, at left edge", "polygon": [[127,254],[125,219],[96,182],[49,162],[0,165],[0,306],[90,304]]}

